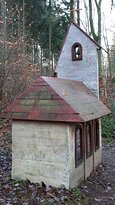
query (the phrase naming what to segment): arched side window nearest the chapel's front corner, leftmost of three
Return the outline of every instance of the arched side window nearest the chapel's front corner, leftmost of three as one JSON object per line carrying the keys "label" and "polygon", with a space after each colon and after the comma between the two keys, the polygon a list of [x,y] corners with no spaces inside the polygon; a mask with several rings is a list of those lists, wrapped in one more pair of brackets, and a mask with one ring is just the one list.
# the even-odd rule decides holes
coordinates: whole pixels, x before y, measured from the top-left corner
{"label": "arched side window nearest the chapel's front corner, leftmost of three", "polygon": [[75,167],[77,167],[83,159],[82,134],[82,127],[78,126],[75,130]]}

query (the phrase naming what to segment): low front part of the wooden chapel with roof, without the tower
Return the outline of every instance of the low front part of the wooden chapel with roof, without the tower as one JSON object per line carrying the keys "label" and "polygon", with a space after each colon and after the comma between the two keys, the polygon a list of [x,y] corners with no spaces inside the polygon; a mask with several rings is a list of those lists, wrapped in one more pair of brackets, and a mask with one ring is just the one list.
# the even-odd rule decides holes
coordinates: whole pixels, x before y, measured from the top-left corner
{"label": "low front part of the wooden chapel with roof, without the tower", "polygon": [[108,108],[80,81],[38,78],[2,113],[12,119],[12,177],[66,188],[101,161]]}

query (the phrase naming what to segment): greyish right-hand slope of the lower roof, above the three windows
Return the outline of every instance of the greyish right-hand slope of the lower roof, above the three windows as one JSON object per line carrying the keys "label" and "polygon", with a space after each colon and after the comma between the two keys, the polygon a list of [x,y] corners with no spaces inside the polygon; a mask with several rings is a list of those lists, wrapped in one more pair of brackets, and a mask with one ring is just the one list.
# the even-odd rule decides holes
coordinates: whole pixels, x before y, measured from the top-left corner
{"label": "greyish right-hand slope of the lower roof, above the three windows", "polygon": [[43,77],[84,121],[110,114],[110,110],[80,81]]}

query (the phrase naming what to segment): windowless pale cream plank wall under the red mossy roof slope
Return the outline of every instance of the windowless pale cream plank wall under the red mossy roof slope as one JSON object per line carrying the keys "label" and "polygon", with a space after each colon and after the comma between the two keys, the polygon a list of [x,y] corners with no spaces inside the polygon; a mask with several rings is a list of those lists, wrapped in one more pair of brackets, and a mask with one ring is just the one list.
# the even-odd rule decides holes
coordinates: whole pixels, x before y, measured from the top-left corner
{"label": "windowless pale cream plank wall under the red mossy roof slope", "polygon": [[13,121],[12,177],[69,188],[68,130],[67,123]]}

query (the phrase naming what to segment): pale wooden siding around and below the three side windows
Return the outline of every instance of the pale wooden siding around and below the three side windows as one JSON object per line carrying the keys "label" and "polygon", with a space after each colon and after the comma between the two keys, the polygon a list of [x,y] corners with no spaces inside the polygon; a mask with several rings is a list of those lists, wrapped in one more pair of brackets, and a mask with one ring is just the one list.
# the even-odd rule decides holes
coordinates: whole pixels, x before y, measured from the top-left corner
{"label": "pale wooden siding around and below the three side windows", "polygon": [[[101,162],[101,152],[97,150],[93,154],[86,158],[85,153],[85,160],[78,165],[77,168],[75,168],[75,128],[77,124],[71,124],[69,129],[69,139],[68,139],[68,145],[69,145],[69,186],[70,188],[76,187],[80,181],[86,180],[87,177],[91,174],[94,167]],[[84,142],[86,145],[86,141]]]}

